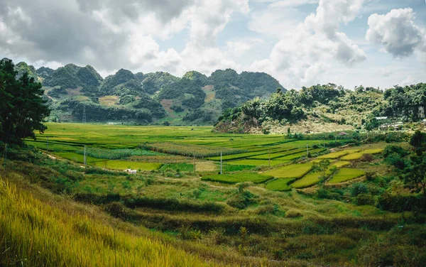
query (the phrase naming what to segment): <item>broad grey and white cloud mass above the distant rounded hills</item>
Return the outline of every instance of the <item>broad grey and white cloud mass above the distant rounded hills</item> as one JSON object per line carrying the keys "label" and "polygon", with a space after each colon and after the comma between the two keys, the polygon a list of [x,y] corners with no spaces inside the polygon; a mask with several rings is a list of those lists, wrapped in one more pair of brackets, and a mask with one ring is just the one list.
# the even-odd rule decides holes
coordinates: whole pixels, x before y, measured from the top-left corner
{"label": "broad grey and white cloud mass above the distant rounded hills", "polygon": [[[234,13],[250,11],[248,0],[0,1],[1,55],[52,65],[90,64],[102,73],[121,67],[174,73],[239,67],[229,57],[231,43],[220,50],[216,38]],[[33,12],[40,8],[43,12]],[[158,40],[185,29],[181,53],[160,48]],[[235,43],[233,52],[243,55],[251,46]]]}

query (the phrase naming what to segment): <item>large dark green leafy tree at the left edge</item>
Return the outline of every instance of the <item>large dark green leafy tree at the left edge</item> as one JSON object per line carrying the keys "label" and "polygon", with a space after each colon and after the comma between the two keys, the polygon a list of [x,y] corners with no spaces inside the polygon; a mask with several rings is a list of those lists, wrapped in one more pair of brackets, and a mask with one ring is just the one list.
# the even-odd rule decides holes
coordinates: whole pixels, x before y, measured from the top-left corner
{"label": "large dark green leafy tree at the left edge", "polygon": [[21,144],[24,138],[35,138],[34,131],[47,129],[43,119],[50,109],[42,98],[40,82],[28,73],[16,78],[13,67],[11,60],[0,61],[0,137],[4,143]]}

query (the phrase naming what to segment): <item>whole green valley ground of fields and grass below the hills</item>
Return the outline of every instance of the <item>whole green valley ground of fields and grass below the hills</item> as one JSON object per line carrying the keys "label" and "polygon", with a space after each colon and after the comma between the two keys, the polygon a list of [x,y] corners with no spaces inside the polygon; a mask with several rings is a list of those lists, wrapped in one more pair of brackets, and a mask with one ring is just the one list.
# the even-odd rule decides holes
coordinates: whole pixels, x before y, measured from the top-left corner
{"label": "whole green valley ground of fields and grass below the hills", "polygon": [[[334,138],[297,141],[208,127],[48,126],[45,136],[28,142],[36,148],[11,148],[0,169],[0,266],[426,261],[425,214],[378,205],[384,192],[409,193],[382,163],[384,142],[333,148]],[[85,169],[84,145],[94,163]],[[303,146],[312,158],[303,158]],[[217,175],[218,151],[226,152],[225,175]],[[271,155],[277,158],[268,167]],[[321,159],[338,168],[324,187],[311,171]],[[134,163],[136,175],[122,172]]]}

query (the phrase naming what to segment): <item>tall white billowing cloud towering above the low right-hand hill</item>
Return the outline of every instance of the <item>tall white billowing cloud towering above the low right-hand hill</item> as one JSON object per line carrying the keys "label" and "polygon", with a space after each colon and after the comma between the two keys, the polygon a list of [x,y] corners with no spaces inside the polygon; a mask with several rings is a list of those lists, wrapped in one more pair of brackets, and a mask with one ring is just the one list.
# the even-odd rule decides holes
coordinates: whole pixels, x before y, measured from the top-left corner
{"label": "tall white billowing cloud towering above the low right-hand hill", "polygon": [[334,62],[351,66],[366,60],[366,53],[345,33],[342,23],[356,18],[364,0],[320,0],[315,13],[285,33],[267,60],[256,61],[251,69],[273,73],[289,88],[312,85]]}

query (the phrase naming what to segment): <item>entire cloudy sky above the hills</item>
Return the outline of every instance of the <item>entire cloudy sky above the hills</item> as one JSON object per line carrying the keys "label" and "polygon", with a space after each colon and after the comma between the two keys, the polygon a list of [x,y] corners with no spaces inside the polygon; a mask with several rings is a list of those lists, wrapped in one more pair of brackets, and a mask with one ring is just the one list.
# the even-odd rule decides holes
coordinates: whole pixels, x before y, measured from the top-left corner
{"label": "entire cloudy sky above the hills", "polygon": [[425,0],[0,0],[0,58],[103,77],[232,68],[283,87],[426,82]]}

